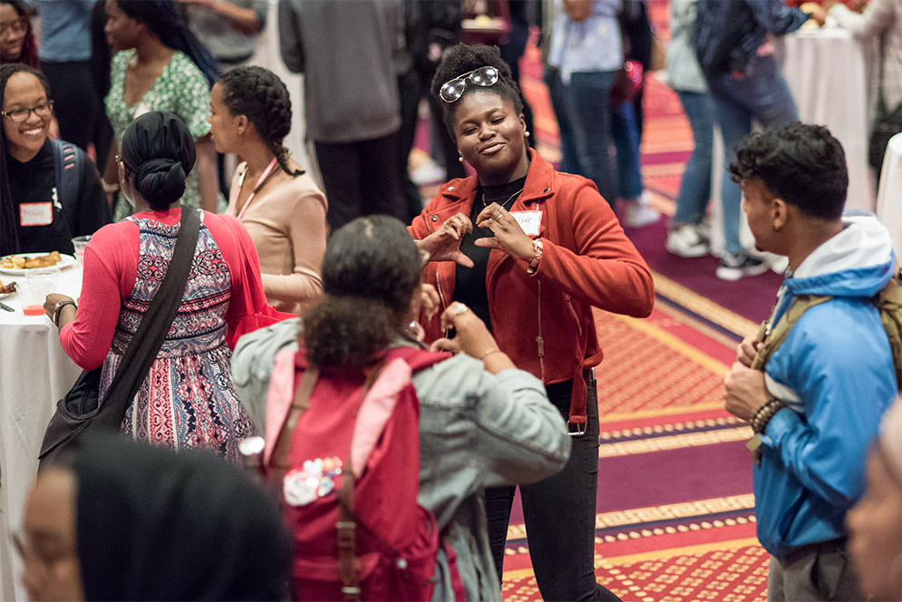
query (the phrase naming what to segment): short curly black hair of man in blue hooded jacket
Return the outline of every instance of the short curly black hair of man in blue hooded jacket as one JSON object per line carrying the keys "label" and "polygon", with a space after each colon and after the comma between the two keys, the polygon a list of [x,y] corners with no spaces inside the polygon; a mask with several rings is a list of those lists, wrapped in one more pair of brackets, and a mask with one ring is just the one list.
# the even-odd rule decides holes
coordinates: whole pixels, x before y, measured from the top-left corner
{"label": "short curly black hair of man in blue hooded jacket", "polygon": [[740,141],[732,180],[761,180],[773,194],[818,219],[839,219],[846,204],[846,153],[829,130],[809,123],[755,132]]}

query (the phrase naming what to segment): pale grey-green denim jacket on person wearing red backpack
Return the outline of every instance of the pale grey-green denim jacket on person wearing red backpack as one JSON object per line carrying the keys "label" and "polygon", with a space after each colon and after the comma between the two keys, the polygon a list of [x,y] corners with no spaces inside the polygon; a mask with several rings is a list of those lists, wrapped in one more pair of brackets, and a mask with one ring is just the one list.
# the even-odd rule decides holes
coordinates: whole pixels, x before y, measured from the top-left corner
{"label": "pale grey-green denim jacket on person wearing red backpack", "polygon": [[[285,348],[297,348],[298,321],[241,337],[232,356],[238,398],[262,432],[269,374]],[[457,555],[468,600],[500,600],[486,532],[483,490],[528,484],[560,471],[570,439],[545,387],[532,374],[489,374],[458,354],[413,375],[420,400],[420,495]],[[440,552],[433,600],[453,599]]]}

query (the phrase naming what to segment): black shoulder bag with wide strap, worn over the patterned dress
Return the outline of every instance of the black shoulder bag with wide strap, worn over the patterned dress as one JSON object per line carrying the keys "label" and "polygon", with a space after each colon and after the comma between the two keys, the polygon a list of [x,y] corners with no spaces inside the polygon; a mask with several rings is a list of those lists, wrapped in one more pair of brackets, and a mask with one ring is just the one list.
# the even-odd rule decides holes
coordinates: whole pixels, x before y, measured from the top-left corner
{"label": "black shoulder bag with wide strap, worn over the patterned dress", "polygon": [[103,366],[83,371],[69,393],[56,403],[56,412],[47,424],[38,454],[42,467],[72,449],[85,432],[119,430],[131,400],[147,378],[150,366],[160,353],[160,347],[179,311],[198,245],[199,231],[198,212],[182,209],[179,236],[166,277],[141,319],[138,331],[131,338],[103,403],[100,403]]}

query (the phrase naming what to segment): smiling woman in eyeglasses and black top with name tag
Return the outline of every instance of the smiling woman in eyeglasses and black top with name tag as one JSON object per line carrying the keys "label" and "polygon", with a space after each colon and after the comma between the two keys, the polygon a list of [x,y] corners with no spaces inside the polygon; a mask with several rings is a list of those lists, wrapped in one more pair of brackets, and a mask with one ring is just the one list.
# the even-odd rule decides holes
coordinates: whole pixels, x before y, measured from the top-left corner
{"label": "smiling woman in eyeglasses and black top with name tag", "polygon": [[47,139],[48,89],[44,75],[26,64],[0,66],[0,256],[72,254],[73,237],[110,222],[92,160],[74,145]]}

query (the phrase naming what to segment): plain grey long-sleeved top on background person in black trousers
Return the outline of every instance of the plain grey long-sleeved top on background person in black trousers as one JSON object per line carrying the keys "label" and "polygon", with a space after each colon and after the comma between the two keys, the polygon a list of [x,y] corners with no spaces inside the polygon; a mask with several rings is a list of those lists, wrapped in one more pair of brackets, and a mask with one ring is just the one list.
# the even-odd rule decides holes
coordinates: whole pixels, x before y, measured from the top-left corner
{"label": "plain grey long-sleeved top on background person in black trousers", "polygon": [[367,141],[401,127],[403,26],[400,0],[279,0],[282,59],[305,75],[308,138]]}

